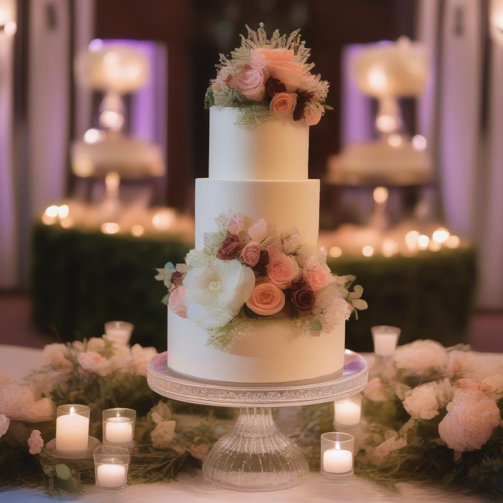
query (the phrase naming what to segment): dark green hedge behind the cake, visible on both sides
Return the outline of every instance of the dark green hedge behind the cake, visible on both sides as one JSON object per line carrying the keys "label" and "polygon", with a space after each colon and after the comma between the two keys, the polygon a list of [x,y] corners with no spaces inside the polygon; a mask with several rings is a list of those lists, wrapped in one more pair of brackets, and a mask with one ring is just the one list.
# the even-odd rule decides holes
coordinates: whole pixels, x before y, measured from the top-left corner
{"label": "dark green hedge behind the cake, visible on both sides", "polygon": [[[132,342],[166,347],[164,286],[154,267],[181,262],[191,247],[173,237],[134,238],[99,231],[33,228],[33,319],[63,341],[98,336],[113,319],[135,325]],[[346,345],[372,349],[370,327],[402,328],[400,342],[432,338],[450,345],[466,336],[475,257],[471,249],[425,251],[413,258],[331,259],[338,274],[354,274],[369,309],[346,326]]]}

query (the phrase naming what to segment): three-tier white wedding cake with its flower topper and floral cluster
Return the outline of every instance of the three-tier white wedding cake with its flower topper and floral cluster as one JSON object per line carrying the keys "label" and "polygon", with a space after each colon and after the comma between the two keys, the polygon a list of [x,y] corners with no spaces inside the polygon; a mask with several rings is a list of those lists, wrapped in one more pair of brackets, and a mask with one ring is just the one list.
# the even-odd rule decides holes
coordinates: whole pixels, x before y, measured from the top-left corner
{"label": "three-tier white wedding cake with its flower topper and floral cluster", "polygon": [[271,383],[341,371],[345,321],[364,309],[354,277],[317,246],[319,180],[309,127],[328,83],[298,31],[263,29],[220,55],[208,88],[209,178],[196,180],[196,248],[167,263],[167,365],[202,379]]}

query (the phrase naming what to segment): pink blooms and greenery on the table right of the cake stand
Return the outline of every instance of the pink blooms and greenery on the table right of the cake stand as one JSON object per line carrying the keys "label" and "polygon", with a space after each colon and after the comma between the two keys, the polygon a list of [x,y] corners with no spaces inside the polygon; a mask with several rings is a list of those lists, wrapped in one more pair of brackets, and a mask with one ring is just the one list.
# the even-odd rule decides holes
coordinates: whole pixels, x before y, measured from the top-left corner
{"label": "pink blooms and greenery on the table right of the cake stand", "polygon": [[[424,481],[503,501],[503,355],[414,341],[370,369],[363,394],[355,473],[388,487]],[[304,412],[316,440],[333,428],[333,407]]]}

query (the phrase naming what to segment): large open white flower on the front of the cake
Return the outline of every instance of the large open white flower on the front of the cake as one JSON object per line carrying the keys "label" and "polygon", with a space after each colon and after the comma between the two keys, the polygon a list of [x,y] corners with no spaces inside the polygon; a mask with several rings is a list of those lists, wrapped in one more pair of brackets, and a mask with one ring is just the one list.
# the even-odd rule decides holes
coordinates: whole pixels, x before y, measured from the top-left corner
{"label": "large open white flower on the front of the cake", "polygon": [[184,286],[187,317],[203,328],[217,328],[241,310],[255,287],[255,274],[238,260],[215,259],[190,269]]}

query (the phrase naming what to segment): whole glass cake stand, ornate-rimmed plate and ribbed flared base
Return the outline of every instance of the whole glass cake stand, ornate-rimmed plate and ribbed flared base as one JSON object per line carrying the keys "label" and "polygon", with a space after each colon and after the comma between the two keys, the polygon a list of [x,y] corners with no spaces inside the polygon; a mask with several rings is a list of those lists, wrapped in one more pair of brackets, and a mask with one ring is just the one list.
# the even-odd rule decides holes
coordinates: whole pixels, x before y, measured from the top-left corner
{"label": "whole glass cake stand, ornate-rimmed plate and ribbed flared base", "polygon": [[300,450],[276,427],[271,407],[323,403],[360,392],[367,384],[366,361],[346,350],[337,374],[306,381],[234,383],[178,374],[166,365],[167,352],[149,364],[147,381],[156,393],[175,400],[241,407],[232,431],[203,462],[214,485],[240,491],[272,491],[299,484],[309,471]]}

